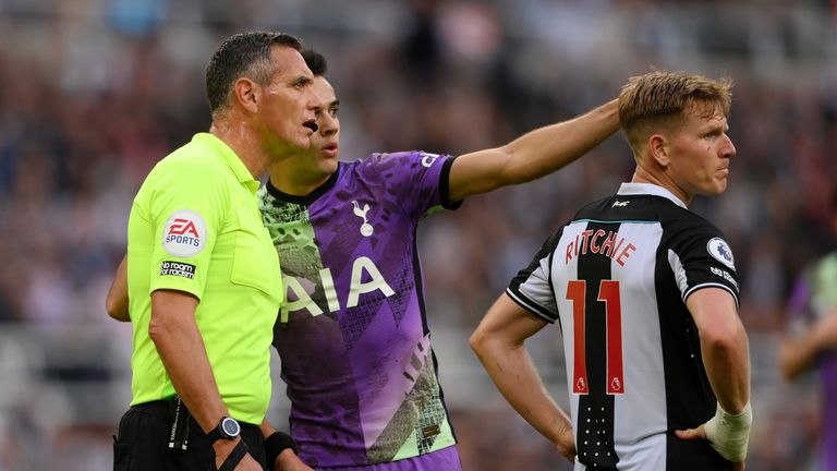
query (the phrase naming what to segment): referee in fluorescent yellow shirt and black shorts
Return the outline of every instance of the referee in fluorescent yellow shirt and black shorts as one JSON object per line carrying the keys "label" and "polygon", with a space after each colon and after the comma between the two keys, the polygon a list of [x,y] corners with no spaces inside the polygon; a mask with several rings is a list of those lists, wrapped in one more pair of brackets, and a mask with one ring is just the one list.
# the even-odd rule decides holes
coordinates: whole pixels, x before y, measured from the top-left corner
{"label": "referee in fluorescent yellow shirt and black shorts", "polygon": [[228,38],[206,69],[209,132],[163,158],[134,198],[133,400],[114,470],[265,467],[258,425],[270,399],[282,286],[256,179],[306,148],[316,128],[300,49],[284,34]]}

